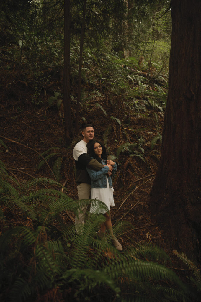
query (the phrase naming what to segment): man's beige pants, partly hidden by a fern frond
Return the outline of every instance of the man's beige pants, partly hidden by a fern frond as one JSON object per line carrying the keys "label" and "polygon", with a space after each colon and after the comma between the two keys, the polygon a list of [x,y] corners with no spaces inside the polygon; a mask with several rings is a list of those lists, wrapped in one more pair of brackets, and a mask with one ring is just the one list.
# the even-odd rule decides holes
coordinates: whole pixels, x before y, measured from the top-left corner
{"label": "man's beige pants, partly hidden by a fern frond", "polygon": [[[91,198],[91,185],[82,182],[80,185],[77,186],[78,191],[78,200],[81,199],[90,199]],[[85,220],[85,213],[87,210],[88,205],[84,205],[78,210],[78,216],[75,217],[75,232],[76,234],[82,234],[84,220]]]}

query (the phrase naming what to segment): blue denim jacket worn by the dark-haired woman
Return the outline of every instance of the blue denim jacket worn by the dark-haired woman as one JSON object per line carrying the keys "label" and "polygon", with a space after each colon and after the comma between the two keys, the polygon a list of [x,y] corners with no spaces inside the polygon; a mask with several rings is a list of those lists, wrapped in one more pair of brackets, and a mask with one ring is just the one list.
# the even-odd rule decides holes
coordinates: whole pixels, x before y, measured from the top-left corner
{"label": "blue denim jacket worn by the dark-haired woman", "polygon": [[[105,165],[105,161],[104,165]],[[103,167],[99,171],[94,171],[92,169],[89,169],[86,167],[87,172],[89,173],[89,176],[91,178],[91,187],[92,188],[106,188],[107,187],[107,178],[109,182],[109,186],[112,188],[112,178],[117,170],[117,165],[116,163],[113,165],[113,170],[112,170],[112,175],[111,177],[107,175],[109,172],[108,166]]]}

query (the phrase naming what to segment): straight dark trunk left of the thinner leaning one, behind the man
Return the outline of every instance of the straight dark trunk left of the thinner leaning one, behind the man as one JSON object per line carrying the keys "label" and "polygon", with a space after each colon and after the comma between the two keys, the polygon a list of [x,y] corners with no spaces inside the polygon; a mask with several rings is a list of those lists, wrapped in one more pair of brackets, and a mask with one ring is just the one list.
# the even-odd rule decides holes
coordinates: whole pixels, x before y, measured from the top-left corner
{"label": "straight dark trunk left of the thinner leaning one, behind the man", "polygon": [[70,109],[70,0],[64,0],[63,111],[65,139],[69,142],[73,135]]}

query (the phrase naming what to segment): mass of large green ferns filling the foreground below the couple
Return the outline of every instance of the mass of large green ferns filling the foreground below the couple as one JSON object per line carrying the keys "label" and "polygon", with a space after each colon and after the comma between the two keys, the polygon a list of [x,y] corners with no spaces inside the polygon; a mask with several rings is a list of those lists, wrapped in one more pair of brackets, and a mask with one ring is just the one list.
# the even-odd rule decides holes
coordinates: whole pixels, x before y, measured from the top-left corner
{"label": "mass of large green ferns filling the foreground below the couple", "polygon": [[[191,301],[196,297],[192,289],[182,283],[168,266],[170,258],[159,247],[137,245],[118,252],[106,240],[97,239],[94,227],[105,220],[92,214],[83,227],[83,235],[75,236],[74,226],[63,223],[60,213],[77,212],[77,208],[91,202],[104,208],[97,200],[73,201],[57,188],[62,186],[46,178],[26,182],[18,190],[6,181],[4,165],[0,163],[1,206],[15,214],[21,213],[31,226],[8,226],[0,236],[1,301],[34,300],[51,288],[59,288],[69,299],[79,301]],[[51,188],[31,191],[49,184]],[[65,188],[64,188],[65,190]],[[5,217],[5,220],[8,219]],[[118,223],[115,235],[128,225]],[[132,227],[132,226],[131,226]],[[103,251],[110,249],[107,258]],[[182,256],[185,258],[184,256]],[[186,258],[185,258],[185,261]],[[192,266],[191,262],[188,262]],[[196,273],[197,282],[200,276]],[[162,285],[161,285],[161,284]],[[171,286],[169,286],[171,284]],[[196,300],[195,300],[196,301]]]}

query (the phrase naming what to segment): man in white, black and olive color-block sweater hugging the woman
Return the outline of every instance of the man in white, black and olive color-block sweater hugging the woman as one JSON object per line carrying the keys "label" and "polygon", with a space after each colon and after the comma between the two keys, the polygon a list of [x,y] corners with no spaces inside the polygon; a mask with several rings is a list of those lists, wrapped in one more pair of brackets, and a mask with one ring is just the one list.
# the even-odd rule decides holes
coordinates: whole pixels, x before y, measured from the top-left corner
{"label": "man in white, black and olive color-block sweater hugging the woman", "polygon": [[[73,158],[75,160],[76,168],[76,184],[79,200],[91,198],[91,179],[86,171],[86,166],[96,171],[99,171],[103,167],[101,163],[99,163],[96,159],[92,159],[87,154],[86,144],[94,138],[94,129],[92,125],[85,125],[82,130],[82,136],[83,140],[79,141],[73,149]],[[108,172],[111,171],[112,166],[108,165]],[[84,224],[87,207],[87,205],[81,207],[81,209],[78,210],[78,216],[76,215],[75,217],[76,234],[82,233],[81,228]]]}

